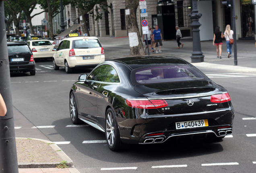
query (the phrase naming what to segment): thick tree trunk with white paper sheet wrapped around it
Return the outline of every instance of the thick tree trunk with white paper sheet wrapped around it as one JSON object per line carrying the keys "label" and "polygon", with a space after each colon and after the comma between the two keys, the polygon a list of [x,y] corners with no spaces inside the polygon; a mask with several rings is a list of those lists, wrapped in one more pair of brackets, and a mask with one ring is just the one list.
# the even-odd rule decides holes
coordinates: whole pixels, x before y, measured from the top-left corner
{"label": "thick tree trunk with white paper sheet wrapped around it", "polygon": [[126,15],[126,24],[130,42],[130,55],[145,55],[136,18],[138,4],[138,0],[126,0],[125,9],[130,11],[130,15]]}

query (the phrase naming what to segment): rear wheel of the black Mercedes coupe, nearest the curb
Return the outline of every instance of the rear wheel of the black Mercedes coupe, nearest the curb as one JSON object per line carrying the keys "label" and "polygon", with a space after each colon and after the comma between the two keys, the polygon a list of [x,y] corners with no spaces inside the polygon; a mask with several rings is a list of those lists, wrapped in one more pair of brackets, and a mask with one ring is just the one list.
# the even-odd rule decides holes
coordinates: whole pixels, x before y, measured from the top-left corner
{"label": "rear wheel of the black Mercedes coupe, nearest the curb", "polygon": [[120,151],[125,148],[125,144],[120,139],[116,117],[111,108],[107,109],[105,115],[105,137],[107,145],[112,151]]}

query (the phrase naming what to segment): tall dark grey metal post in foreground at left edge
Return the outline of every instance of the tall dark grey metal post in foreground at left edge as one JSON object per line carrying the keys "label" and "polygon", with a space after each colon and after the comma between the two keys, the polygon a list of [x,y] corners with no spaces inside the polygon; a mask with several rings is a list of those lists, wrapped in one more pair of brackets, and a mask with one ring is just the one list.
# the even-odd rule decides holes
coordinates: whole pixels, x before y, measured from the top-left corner
{"label": "tall dark grey metal post in foreground at left edge", "polygon": [[7,107],[6,116],[0,117],[0,172],[18,173],[12,95],[10,90],[10,67],[4,19],[4,2],[0,0],[0,93]]}

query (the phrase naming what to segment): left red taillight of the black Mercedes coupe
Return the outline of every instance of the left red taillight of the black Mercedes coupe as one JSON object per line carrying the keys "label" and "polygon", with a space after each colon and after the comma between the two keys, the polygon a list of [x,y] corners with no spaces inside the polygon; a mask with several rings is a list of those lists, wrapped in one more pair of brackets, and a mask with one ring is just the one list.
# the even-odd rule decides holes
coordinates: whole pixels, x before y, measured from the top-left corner
{"label": "left red taillight of the black Mercedes coupe", "polygon": [[166,107],[167,103],[163,99],[159,100],[126,100],[126,103],[130,107],[140,108],[140,109],[157,109],[161,107]]}

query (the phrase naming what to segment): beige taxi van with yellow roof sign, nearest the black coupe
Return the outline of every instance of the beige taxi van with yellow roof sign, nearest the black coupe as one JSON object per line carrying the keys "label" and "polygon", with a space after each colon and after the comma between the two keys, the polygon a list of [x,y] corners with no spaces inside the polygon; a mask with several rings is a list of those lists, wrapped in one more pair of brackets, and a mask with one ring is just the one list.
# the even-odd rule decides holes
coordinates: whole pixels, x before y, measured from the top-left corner
{"label": "beige taxi van with yellow roof sign, nearest the black coupe", "polygon": [[58,45],[53,56],[54,70],[65,67],[66,73],[78,66],[96,66],[105,61],[104,49],[97,37],[69,34]]}

